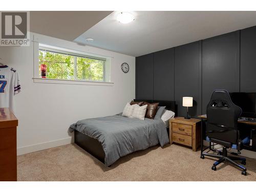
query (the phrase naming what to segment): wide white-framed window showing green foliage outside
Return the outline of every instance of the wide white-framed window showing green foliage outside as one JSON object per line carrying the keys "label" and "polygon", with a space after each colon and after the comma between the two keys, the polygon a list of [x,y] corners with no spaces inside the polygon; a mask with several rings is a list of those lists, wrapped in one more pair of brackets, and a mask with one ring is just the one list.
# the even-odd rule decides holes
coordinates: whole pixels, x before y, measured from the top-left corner
{"label": "wide white-framed window showing green foliage outside", "polygon": [[38,78],[34,79],[110,82],[109,68],[110,59],[108,58],[39,44],[36,72]]}

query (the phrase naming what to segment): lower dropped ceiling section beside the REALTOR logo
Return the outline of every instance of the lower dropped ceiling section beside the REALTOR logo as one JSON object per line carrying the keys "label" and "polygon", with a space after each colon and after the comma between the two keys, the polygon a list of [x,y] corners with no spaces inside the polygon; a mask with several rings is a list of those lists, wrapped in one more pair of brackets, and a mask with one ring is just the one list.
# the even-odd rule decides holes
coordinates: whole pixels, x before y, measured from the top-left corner
{"label": "lower dropped ceiling section beside the REALTOR logo", "polygon": [[73,41],[112,11],[30,11],[30,31]]}

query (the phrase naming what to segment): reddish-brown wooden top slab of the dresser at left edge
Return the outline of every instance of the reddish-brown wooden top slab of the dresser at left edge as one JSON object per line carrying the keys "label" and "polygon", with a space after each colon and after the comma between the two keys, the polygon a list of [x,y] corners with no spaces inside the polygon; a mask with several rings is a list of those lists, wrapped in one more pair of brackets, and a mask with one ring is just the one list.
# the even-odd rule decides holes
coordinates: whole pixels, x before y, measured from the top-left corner
{"label": "reddish-brown wooden top slab of the dresser at left edge", "polygon": [[0,129],[18,125],[18,119],[9,108],[0,108]]}

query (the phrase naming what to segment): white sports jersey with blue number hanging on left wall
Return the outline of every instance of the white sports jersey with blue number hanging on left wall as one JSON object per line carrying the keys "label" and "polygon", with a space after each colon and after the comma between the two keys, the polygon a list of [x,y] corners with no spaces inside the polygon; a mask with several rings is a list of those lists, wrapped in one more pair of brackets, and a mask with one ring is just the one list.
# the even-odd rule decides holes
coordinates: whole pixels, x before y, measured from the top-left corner
{"label": "white sports jersey with blue number hanging on left wall", "polygon": [[13,96],[19,92],[18,72],[8,66],[0,66],[0,108],[13,111]]}

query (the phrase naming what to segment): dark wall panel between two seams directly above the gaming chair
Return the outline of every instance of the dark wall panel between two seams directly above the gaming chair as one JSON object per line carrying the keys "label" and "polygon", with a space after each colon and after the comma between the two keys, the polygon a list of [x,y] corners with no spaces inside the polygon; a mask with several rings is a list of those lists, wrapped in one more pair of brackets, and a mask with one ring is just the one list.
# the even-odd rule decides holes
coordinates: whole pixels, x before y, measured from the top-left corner
{"label": "dark wall panel between two seams directly above the gaming chair", "polygon": [[240,31],[202,41],[202,113],[216,89],[239,92]]}

